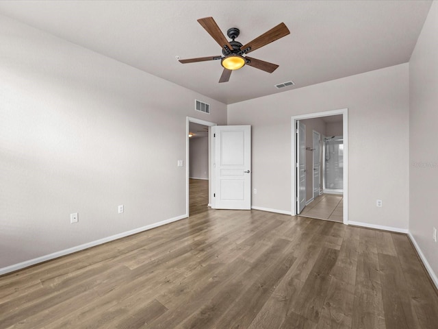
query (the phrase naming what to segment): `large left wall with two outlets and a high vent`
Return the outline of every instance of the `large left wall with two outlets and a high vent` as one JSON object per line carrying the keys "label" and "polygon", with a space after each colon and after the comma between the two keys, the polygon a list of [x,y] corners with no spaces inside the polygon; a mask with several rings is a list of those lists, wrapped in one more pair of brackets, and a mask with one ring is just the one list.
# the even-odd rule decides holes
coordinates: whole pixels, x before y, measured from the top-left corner
{"label": "large left wall with two outlets and a high vent", "polygon": [[185,215],[186,117],[225,104],[4,16],[0,58],[0,269]]}

